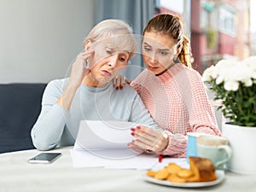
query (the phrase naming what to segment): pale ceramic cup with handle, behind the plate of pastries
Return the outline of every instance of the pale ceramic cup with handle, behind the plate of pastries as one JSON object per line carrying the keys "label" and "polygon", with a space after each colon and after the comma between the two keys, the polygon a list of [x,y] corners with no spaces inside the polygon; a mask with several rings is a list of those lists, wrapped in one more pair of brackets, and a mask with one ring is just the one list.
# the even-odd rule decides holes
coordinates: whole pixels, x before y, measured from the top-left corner
{"label": "pale ceramic cup with handle, behind the plate of pastries", "polygon": [[229,140],[225,137],[204,135],[196,138],[197,156],[212,160],[216,169],[223,169],[232,155]]}

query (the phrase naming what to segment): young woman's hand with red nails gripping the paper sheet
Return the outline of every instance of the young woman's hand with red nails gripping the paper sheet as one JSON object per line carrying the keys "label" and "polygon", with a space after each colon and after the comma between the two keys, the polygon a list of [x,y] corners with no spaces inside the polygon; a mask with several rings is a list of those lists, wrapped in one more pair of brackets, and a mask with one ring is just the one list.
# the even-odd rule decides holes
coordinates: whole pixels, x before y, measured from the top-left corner
{"label": "young woman's hand with red nails gripping the paper sheet", "polygon": [[136,139],[129,143],[128,147],[138,152],[149,150],[160,153],[167,148],[169,143],[169,137],[166,131],[162,129],[137,126],[136,128],[131,128],[131,135]]}

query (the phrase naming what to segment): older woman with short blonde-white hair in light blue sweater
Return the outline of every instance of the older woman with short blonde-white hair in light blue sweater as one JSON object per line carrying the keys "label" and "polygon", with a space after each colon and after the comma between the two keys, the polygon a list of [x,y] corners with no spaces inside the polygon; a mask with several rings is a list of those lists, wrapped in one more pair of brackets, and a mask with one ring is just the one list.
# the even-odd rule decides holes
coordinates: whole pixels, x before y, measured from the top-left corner
{"label": "older woman with short blonde-white hair in light blue sweater", "polygon": [[31,132],[34,146],[49,150],[73,145],[82,119],[157,127],[135,90],[113,88],[112,79],[136,51],[131,27],[124,21],[104,20],[96,25],[85,38],[84,52],[74,61],[70,77],[53,80],[46,87],[42,111]]}

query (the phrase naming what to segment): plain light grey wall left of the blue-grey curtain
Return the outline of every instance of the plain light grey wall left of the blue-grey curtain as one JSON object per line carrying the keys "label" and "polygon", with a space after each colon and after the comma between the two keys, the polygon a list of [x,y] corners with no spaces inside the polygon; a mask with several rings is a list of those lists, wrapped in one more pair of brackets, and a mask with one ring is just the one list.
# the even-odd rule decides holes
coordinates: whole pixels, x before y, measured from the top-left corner
{"label": "plain light grey wall left of the blue-grey curtain", "polygon": [[0,84],[67,76],[94,23],[94,0],[0,0]]}

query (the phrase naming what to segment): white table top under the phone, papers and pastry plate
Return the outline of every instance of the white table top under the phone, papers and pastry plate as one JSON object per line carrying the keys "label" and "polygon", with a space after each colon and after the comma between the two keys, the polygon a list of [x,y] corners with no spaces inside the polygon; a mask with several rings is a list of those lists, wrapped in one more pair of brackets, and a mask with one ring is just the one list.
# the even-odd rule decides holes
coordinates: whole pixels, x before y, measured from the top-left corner
{"label": "white table top under the phone, papers and pastry plate", "polygon": [[0,154],[0,191],[256,191],[256,175],[226,172],[224,182],[218,185],[200,189],[180,189],[147,183],[143,180],[143,172],[136,170],[74,168],[69,149],[52,150],[51,152],[61,152],[62,156],[47,165],[27,163],[28,159],[40,153],[38,150]]}

